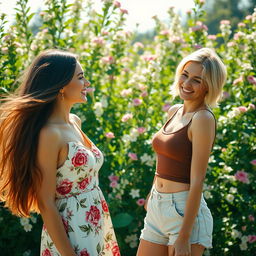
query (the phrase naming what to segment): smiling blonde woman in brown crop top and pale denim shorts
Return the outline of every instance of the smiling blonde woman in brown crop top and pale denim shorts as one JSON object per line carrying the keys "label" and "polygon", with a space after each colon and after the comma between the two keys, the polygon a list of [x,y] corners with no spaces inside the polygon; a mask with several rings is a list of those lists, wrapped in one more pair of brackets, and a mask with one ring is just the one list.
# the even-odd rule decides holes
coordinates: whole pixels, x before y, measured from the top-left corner
{"label": "smiling blonde woman in brown crop top and pale denim shorts", "polygon": [[169,109],[152,140],[156,173],[137,256],[201,256],[212,247],[213,219],[202,189],[216,133],[210,107],[225,79],[224,64],[209,48],[177,67],[174,93],[183,104]]}

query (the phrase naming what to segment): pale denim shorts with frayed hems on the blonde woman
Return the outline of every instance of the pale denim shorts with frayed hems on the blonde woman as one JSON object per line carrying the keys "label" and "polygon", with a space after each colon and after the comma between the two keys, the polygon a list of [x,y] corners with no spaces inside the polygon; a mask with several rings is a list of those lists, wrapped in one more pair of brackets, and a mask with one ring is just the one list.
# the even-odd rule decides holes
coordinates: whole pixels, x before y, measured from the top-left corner
{"label": "pale denim shorts with frayed hems on the blonde woman", "polygon": [[[188,191],[160,193],[153,187],[140,239],[156,244],[173,245],[183,222],[187,197]],[[190,243],[211,248],[212,231],[213,218],[202,195]]]}

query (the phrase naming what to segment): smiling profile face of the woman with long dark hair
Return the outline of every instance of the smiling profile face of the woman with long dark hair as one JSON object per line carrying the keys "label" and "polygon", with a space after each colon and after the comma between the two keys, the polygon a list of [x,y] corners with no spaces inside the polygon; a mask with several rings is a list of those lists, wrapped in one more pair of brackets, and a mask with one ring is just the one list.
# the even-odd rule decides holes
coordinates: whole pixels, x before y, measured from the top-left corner
{"label": "smiling profile face of the woman with long dark hair", "polygon": [[84,78],[84,72],[79,62],[76,64],[76,69],[72,80],[67,84],[61,93],[64,94],[64,99],[70,103],[83,103],[87,101],[87,87],[90,82]]}

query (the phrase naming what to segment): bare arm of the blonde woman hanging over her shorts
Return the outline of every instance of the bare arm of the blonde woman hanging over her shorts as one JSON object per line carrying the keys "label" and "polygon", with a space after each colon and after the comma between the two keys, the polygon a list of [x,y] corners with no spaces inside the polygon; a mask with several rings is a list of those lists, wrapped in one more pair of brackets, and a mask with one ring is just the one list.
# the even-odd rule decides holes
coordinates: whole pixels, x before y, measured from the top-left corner
{"label": "bare arm of the blonde woman hanging over her shorts", "polygon": [[[195,218],[198,214],[203,182],[215,136],[215,120],[211,113],[202,110],[195,114],[191,123],[191,136],[193,154],[191,161],[190,190],[183,223],[179,236],[175,242],[176,246],[179,248],[177,248],[178,250],[180,250],[181,247],[183,247],[181,250],[184,250],[185,247],[187,247],[189,251],[189,238]],[[184,247],[184,245],[186,246]]]}

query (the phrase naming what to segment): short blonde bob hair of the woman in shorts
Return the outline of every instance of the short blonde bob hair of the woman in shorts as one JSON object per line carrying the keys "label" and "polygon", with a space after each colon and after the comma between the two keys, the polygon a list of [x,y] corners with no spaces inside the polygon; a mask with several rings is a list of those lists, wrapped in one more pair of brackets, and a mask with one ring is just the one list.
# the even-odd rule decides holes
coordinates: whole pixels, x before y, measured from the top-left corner
{"label": "short blonde bob hair of the woman in shorts", "polygon": [[208,90],[208,93],[205,96],[205,104],[210,107],[215,107],[222,94],[222,88],[227,77],[227,70],[219,56],[210,48],[201,48],[186,56],[180,62],[175,73],[172,90],[173,95],[179,95],[180,75],[185,65],[191,61],[202,64],[202,81]]}

